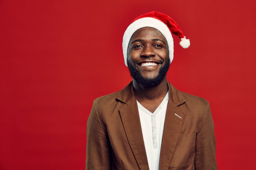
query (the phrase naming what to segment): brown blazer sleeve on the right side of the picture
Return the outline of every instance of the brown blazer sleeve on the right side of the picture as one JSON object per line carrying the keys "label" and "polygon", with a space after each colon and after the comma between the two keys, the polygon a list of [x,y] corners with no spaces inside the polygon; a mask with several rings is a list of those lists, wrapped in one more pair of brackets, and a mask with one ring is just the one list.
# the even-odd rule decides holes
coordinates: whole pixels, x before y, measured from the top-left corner
{"label": "brown blazer sleeve on the right side of the picture", "polygon": [[201,128],[196,137],[196,170],[216,170],[214,124],[207,101]]}

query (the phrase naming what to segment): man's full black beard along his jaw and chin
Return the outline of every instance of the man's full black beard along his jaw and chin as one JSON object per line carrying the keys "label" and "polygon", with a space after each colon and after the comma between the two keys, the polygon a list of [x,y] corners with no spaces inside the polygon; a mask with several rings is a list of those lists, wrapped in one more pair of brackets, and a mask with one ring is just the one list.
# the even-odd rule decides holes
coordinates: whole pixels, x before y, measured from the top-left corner
{"label": "man's full black beard along his jaw and chin", "polygon": [[[134,62],[133,64],[135,65],[136,63]],[[142,76],[140,71],[137,70],[134,65],[132,65],[127,59],[127,66],[132,78],[143,87],[155,87],[164,80],[164,77],[166,76],[166,73],[170,67],[170,58],[164,65],[160,67],[159,72],[155,78],[146,78]]]}

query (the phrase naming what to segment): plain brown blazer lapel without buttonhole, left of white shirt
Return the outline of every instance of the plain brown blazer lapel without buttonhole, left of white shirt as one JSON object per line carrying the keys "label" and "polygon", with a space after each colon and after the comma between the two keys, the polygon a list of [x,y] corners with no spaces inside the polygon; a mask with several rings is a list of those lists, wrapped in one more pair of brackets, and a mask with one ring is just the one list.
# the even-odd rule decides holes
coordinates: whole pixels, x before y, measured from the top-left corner
{"label": "plain brown blazer lapel without buttonhole, left of white shirt", "polygon": [[116,99],[124,103],[124,106],[119,109],[119,113],[137,164],[141,170],[149,170],[148,159],[140,125],[140,116],[137,102],[134,97],[132,84],[130,83],[126,88],[124,88],[121,92],[121,95]]}

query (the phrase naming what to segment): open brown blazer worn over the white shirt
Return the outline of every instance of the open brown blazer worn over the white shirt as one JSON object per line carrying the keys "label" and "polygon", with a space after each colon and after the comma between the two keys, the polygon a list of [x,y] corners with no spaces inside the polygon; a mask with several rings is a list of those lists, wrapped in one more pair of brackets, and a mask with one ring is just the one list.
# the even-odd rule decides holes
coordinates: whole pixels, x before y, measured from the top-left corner
{"label": "open brown blazer worn over the white shirt", "polygon": [[[217,169],[208,101],[168,86],[159,169]],[[86,135],[86,169],[149,170],[132,82],[93,101]]]}

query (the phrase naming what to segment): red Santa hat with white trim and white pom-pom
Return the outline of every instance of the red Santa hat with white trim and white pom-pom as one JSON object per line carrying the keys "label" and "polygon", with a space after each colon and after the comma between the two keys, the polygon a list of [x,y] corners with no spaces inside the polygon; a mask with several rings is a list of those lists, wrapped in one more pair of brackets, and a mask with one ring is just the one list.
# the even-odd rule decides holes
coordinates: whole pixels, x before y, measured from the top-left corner
{"label": "red Santa hat with white trim and white pom-pom", "polygon": [[124,63],[127,66],[127,51],[129,41],[132,37],[132,34],[140,28],[143,27],[152,27],[160,31],[167,41],[168,48],[169,48],[169,57],[170,61],[172,62],[173,59],[173,39],[172,33],[177,35],[181,41],[180,45],[183,48],[188,48],[190,45],[189,39],[183,35],[182,31],[180,30],[179,26],[176,22],[163,13],[152,11],[146,14],[143,14],[134,19],[131,25],[128,26],[126,31],[124,32],[123,37],[123,53],[124,53]]}

